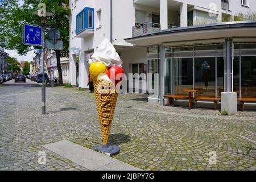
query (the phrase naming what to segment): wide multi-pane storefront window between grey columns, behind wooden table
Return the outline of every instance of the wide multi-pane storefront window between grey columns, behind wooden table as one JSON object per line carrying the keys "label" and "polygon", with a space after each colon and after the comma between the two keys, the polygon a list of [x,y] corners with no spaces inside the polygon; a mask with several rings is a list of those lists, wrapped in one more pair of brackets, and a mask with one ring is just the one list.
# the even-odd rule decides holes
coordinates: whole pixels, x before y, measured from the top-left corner
{"label": "wide multi-pane storefront window between grey columns, behind wooden table", "polygon": [[184,89],[197,89],[197,96],[220,97],[224,92],[223,44],[167,47],[165,51],[165,94],[180,95],[185,94]]}

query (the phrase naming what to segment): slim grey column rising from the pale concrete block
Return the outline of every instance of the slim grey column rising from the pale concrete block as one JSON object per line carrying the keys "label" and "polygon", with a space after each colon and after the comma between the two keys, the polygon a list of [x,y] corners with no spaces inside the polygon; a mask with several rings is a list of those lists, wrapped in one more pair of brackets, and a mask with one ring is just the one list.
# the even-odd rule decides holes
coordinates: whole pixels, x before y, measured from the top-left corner
{"label": "slim grey column rising from the pale concrete block", "polygon": [[231,40],[226,40],[226,92],[231,92]]}

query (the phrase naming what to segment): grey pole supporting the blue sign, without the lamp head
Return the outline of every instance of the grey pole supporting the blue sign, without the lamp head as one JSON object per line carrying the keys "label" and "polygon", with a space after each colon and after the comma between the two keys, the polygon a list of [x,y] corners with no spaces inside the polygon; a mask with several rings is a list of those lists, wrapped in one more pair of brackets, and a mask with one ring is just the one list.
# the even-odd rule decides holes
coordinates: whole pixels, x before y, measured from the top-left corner
{"label": "grey pole supporting the blue sign, without the lamp head", "polygon": [[46,85],[44,84],[44,51],[46,50],[46,43],[44,42],[44,29],[46,24],[43,23],[43,56],[42,56],[42,67],[43,67],[43,81],[42,81],[42,114],[46,114]]}

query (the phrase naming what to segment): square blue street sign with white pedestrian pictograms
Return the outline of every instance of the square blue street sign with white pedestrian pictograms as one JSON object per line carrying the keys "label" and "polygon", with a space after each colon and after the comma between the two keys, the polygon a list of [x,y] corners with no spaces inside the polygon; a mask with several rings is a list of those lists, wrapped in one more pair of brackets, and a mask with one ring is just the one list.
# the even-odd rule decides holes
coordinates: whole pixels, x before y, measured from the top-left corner
{"label": "square blue street sign with white pedestrian pictograms", "polygon": [[43,45],[42,28],[24,24],[23,26],[23,43],[29,46]]}

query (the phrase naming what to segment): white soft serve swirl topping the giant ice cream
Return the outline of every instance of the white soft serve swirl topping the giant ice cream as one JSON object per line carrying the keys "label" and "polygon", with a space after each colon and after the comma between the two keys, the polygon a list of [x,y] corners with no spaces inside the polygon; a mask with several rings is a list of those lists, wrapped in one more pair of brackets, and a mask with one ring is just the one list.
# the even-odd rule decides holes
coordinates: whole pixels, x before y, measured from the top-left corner
{"label": "white soft serve swirl topping the giant ice cream", "polygon": [[92,59],[89,60],[89,65],[92,63],[103,63],[109,68],[112,66],[122,67],[123,61],[115,51],[113,44],[105,38],[93,53]]}

